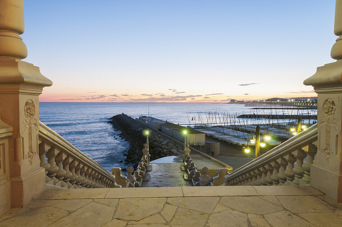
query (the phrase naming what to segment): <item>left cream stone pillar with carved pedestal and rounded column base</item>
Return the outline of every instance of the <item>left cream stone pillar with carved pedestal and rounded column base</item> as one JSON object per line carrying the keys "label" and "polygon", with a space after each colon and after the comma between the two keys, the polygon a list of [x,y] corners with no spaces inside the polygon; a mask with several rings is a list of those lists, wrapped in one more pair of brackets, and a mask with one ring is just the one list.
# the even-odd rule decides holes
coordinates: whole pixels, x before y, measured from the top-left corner
{"label": "left cream stone pillar with carved pedestal and rounded column base", "polygon": [[12,207],[22,207],[45,189],[45,169],[38,149],[39,100],[44,86],[52,82],[39,68],[22,61],[27,48],[19,36],[24,32],[23,0],[0,1],[0,115],[13,127],[9,140]]}

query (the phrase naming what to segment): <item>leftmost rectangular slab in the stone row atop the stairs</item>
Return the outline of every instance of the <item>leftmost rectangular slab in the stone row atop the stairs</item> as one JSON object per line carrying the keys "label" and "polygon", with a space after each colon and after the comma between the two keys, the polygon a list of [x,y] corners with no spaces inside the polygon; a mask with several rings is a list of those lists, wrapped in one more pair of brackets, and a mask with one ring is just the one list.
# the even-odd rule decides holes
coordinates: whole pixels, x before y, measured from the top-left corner
{"label": "leftmost rectangular slab in the stone row atop the stairs", "polygon": [[104,198],[109,188],[47,189],[37,199],[95,199]]}

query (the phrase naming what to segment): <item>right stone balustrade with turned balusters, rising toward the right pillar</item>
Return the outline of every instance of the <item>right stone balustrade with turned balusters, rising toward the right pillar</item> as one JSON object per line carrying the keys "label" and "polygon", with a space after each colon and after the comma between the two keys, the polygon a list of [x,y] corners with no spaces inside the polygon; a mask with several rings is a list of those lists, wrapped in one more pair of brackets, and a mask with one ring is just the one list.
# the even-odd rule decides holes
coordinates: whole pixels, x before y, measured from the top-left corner
{"label": "right stone balustrade with turned balusters, rising toward the right pillar", "polygon": [[222,185],[310,184],[310,166],[317,153],[313,142],[317,141],[317,135],[315,124],[231,174],[222,175]]}

